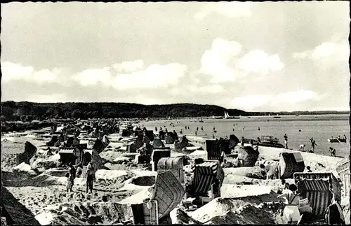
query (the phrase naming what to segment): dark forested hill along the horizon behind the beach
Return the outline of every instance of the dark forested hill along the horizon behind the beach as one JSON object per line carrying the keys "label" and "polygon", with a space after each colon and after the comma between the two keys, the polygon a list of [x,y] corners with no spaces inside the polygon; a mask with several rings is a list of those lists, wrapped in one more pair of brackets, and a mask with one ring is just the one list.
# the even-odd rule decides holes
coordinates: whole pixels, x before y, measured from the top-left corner
{"label": "dark forested hill along the horizon behind the beach", "polygon": [[[58,103],[6,101],[1,103],[2,118],[6,120],[41,120],[45,118],[180,118],[199,116],[247,115],[245,111],[225,109],[216,105],[164,104],[143,105],[127,103]],[[21,118],[22,117],[22,118]]]}

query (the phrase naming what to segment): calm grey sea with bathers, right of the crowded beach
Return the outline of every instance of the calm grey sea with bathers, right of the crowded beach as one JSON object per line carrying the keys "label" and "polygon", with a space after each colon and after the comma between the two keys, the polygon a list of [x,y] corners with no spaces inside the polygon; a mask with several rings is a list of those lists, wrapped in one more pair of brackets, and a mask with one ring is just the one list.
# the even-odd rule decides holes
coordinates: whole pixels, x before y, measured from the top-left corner
{"label": "calm grey sea with bathers, right of the crowded beach", "polygon": [[[288,136],[289,148],[298,149],[300,144],[305,144],[306,148],[311,148],[310,139],[316,141],[317,146],[314,149],[319,155],[329,155],[329,147],[336,148],[336,155],[345,157],[350,153],[350,126],[349,115],[287,115],[282,118],[273,118],[272,116],[254,116],[251,118],[241,117],[240,119],[205,119],[204,122],[198,122],[198,119],[192,120],[162,120],[153,122],[142,122],[147,129],[154,130],[156,126],[164,127],[168,131],[176,130],[180,135],[180,129],[183,134],[195,135],[197,127],[199,131],[197,136],[211,138],[213,127],[216,127],[215,137],[229,136],[235,134],[239,139],[244,136],[247,139],[256,139],[263,135],[277,137],[280,143],[284,144],[284,134]],[[170,123],[173,122],[175,127]],[[185,125],[190,129],[185,129]],[[201,131],[201,126],[204,131]],[[260,131],[258,131],[260,127]],[[234,128],[234,131],[233,131]],[[299,132],[299,129],[301,132]],[[329,143],[331,136],[347,136],[347,143]]]}

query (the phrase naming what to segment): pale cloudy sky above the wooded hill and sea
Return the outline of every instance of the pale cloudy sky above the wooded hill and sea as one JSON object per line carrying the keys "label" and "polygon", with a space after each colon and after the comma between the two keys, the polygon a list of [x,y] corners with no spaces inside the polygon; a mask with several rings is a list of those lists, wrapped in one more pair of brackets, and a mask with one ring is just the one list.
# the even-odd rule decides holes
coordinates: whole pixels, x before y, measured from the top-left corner
{"label": "pale cloudy sky above the wooded hill and sea", "polygon": [[348,1],[1,4],[2,101],[348,110]]}

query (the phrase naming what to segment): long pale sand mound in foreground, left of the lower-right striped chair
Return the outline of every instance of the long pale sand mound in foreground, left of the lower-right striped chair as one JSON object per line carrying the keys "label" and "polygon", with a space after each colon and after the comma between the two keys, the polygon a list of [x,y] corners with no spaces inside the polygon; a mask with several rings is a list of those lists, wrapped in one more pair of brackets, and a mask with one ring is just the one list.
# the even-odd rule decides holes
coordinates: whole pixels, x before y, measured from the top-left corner
{"label": "long pale sand mound in foreground, left of the lower-right striped chair", "polygon": [[202,223],[205,223],[215,216],[221,216],[227,211],[235,211],[241,206],[257,206],[262,203],[271,202],[279,203],[277,194],[272,193],[267,195],[248,196],[241,198],[216,198],[208,204],[197,209],[196,211],[190,213],[190,216],[195,220],[199,220]]}

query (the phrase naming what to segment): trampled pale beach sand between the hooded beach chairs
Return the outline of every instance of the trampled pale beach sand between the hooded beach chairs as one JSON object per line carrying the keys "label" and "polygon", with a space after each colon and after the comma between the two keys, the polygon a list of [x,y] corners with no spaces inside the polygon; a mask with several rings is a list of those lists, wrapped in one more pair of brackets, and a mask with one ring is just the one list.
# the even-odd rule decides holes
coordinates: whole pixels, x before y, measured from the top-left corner
{"label": "trampled pale beach sand between the hooded beach chairs", "polygon": [[[187,138],[190,139],[194,146],[203,146],[206,148],[206,145],[204,144],[205,139],[197,136],[187,136]],[[19,139],[12,140],[11,136],[6,136],[6,139],[8,139],[8,141],[6,141],[8,146],[13,145],[13,142],[19,142]],[[34,141],[32,136],[26,137],[25,141],[31,143],[32,141],[33,143],[37,142]],[[38,141],[38,143],[40,142]],[[111,146],[117,147],[119,145],[112,144]],[[23,150],[24,144],[20,152]],[[279,153],[282,152],[294,152],[294,150],[285,150],[284,148],[267,147],[259,147],[258,150],[260,152],[259,159],[265,161],[279,160]],[[18,151],[19,150],[16,150],[15,152]],[[312,171],[333,171],[334,175],[338,177],[338,174],[336,174],[335,171],[335,166],[336,162],[340,161],[339,157],[322,156],[313,153],[301,154],[303,155],[305,165],[310,166]],[[177,155],[181,154],[172,152],[172,156]],[[112,211],[112,209],[125,209],[122,212],[124,213],[124,216],[128,218],[128,214],[130,213],[126,210],[128,209],[126,206],[131,203],[143,202],[143,199],[150,197],[150,191],[152,190],[152,185],[135,185],[131,183],[131,178],[152,177],[156,176],[157,172],[140,169],[145,166],[131,167],[128,164],[114,164],[114,162],[116,162],[115,160],[121,160],[123,158],[129,159],[129,157],[126,157],[123,152],[118,150],[105,150],[100,153],[100,156],[107,161],[105,167],[110,170],[99,169],[96,172],[93,194],[86,194],[85,178],[77,178],[74,181],[74,192],[66,192],[65,186],[67,178],[65,177],[50,176],[47,174],[41,174],[34,177],[34,175],[28,173],[32,169],[29,169],[24,165],[18,167],[21,169],[21,172],[13,171],[16,164],[15,160],[13,160],[14,155],[11,151],[7,151],[2,155],[1,168],[3,170],[3,183],[13,197],[18,199],[20,204],[31,211],[34,216],[39,216],[38,219],[41,223],[53,221],[56,223],[67,223],[60,220],[58,213],[56,213],[57,211],[55,212],[45,209],[48,206],[56,206],[55,208],[61,206],[59,209],[62,211],[62,205],[71,206],[69,208],[67,207],[68,209],[64,214],[67,219],[71,220],[68,221],[69,223],[98,223],[101,219],[99,221],[93,218],[96,214],[100,214],[100,217],[105,219],[101,221],[103,223],[121,223],[123,217],[119,219],[117,216],[112,216],[110,213],[108,213],[110,215],[107,217],[108,211],[101,211],[100,209],[110,208],[110,211]],[[197,157],[206,159],[206,150],[195,150],[187,156],[191,159]],[[235,211],[244,204],[254,206],[265,202],[277,202],[276,191],[282,189],[282,184],[279,180],[267,181],[264,179],[250,178],[248,176],[249,174],[260,174],[260,170],[259,167],[224,168],[225,179],[223,187],[221,188],[221,193],[222,197],[227,197],[224,198],[227,200],[227,202],[225,202],[226,204],[223,204],[223,201],[218,202],[215,199],[200,209],[197,209],[197,211],[190,213],[190,216],[204,223],[206,220],[211,220],[211,218],[215,218],[216,216],[223,216],[223,218],[225,218],[228,214],[234,214],[234,212],[227,213],[227,211]],[[286,182],[291,183],[293,180],[288,179]],[[102,202],[102,197],[106,197],[107,202]],[[346,201],[347,199],[348,197],[343,198],[342,200],[343,209],[345,214],[350,215],[349,203]],[[90,215],[88,214],[88,216],[91,216],[91,219],[88,216],[84,216],[82,213],[77,213],[77,211],[74,212],[74,208],[76,208],[74,205],[93,205],[93,203],[98,207],[94,207],[96,208],[95,215],[93,213],[89,213]],[[71,210],[71,212],[69,210]],[[81,217],[79,218],[78,216]],[[249,215],[246,214],[245,216],[249,218]],[[270,215],[270,218],[272,216]],[[272,219],[268,222],[271,223]]]}

